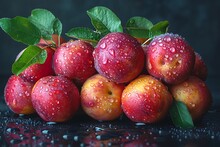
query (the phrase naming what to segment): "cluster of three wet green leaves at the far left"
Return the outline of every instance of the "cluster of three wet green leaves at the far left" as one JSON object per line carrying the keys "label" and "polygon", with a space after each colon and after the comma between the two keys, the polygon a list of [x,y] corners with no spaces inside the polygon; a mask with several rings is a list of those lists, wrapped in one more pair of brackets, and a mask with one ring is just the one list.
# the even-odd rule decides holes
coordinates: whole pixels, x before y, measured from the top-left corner
{"label": "cluster of three wet green leaves at the far left", "polygon": [[34,9],[29,17],[1,18],[0,27],[13,40],[27,45],[12,65],[12,73],[16,75],[33,64],[46,61],[46,50],[37,46],[40,39],[52,40],[53,34],[60,36],[62,33],[60,20],[45,9]]}

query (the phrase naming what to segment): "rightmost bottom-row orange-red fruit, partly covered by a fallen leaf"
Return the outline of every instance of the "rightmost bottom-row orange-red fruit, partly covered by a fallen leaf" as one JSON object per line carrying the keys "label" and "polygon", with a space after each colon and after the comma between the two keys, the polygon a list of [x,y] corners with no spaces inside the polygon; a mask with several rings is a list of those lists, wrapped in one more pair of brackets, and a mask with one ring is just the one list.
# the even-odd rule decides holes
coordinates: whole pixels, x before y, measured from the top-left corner
{"label": "rightmost bottom-row orange-red fruit, partly covered by a fallen leaf", "polygon": [[186,81],[170,86],[175,100],[186,104],[192,119],[199,120],[212,104],[212,95],[203,80],[190,76]]}

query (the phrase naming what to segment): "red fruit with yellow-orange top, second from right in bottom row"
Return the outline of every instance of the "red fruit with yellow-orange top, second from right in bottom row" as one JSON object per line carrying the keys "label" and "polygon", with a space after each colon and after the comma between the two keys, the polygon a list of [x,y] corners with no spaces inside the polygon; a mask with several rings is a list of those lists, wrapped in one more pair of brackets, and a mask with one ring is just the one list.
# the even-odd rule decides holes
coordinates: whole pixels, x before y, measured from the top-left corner
{"label": "red fruit with yellow-orange top, second from right in bottom row", "polygon": [[173,98],[161,81],[150,75],[141,75],[126,86],[121,101],[130,120],[155,123],[167,115]]}

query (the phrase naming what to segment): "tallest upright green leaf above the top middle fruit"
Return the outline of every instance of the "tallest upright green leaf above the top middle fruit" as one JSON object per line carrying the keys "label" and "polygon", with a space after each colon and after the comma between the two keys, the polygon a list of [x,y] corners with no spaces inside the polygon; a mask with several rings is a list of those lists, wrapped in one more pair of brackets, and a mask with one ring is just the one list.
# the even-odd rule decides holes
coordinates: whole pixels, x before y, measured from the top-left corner
{"label": "tallest upright green leaf above the top middle fruit", "polygon": [[123,32],[121,20],[110,9],[102,6],[87,11],[94,28],[102,34]]}

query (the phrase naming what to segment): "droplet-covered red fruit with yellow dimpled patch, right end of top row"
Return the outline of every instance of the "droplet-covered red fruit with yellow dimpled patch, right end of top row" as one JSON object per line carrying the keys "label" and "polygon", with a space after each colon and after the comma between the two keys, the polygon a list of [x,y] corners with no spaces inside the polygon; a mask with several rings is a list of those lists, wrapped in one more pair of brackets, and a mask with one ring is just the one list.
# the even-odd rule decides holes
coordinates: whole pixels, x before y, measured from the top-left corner
{"label": "droplet-covered red fruit with yellow dimpled patch, right end of top row", "polygon": [[167,84],[186,80],[195,64],[193,48],[177,34],[156,36],[146,51],[146,68],[149,74]]}

